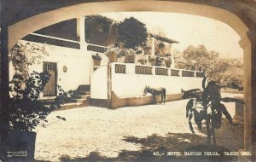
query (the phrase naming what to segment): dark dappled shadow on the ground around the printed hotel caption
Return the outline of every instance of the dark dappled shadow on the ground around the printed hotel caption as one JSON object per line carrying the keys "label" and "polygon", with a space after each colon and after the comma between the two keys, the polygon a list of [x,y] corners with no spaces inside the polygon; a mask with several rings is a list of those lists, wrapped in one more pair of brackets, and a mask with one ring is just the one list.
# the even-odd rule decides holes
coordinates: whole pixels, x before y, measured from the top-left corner
{"label": "dark dappled shadow on the ground around the printed hotel caption", "polygon": [[[224,147],[207,147],[206,136],[198,136],[192,133],[168,133],[166,136],[151,135],[145,138],[125,136],[125,142],[141,145],[139,151],[122,150],[116,158],[102,156],[98,152],[91,152],[84,158],[70,158],[62,156],[61,162],[82,161],[237,161],[236,156],[224,156]],[[111,147],[111,146],[110,146]],[[201,152],[201,156],[173,156],[168,152]],[[204,152],[218,152],[219,156],[205,156]]]}

